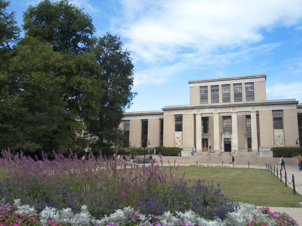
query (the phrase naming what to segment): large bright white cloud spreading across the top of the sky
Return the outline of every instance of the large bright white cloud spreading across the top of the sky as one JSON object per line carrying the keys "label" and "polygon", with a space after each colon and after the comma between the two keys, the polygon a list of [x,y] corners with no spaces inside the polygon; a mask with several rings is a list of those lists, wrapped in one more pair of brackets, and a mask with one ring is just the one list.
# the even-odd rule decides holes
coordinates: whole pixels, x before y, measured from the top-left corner
{"label": "large bright white cloud spreading across the top of the sky", "polygon": [[115,24],[115,31],[127,38],[126,47],[135,61],[152,63],[246,46],[262,40],[263,29],[296,25],[302,17],[300,0],[129,0],[121,4],[123,22]]}

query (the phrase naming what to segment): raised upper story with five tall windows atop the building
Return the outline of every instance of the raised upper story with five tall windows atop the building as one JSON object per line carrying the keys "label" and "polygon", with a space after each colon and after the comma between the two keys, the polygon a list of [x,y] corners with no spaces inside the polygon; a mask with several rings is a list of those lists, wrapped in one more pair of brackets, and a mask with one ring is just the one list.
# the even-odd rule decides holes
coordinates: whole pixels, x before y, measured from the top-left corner
{"label": "raised upper story with five tall windows atop the building", "polygon": [[190,80],[190,105],[266,100],[265,74]]}

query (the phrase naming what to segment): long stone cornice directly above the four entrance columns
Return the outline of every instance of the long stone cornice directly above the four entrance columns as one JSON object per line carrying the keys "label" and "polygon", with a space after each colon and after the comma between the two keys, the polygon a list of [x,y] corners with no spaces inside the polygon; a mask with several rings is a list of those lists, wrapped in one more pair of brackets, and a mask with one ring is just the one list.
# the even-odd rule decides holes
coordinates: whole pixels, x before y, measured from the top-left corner
{"label": "long stone cornice directly above the four entrance columns", "polygon": [[[298,104],[295,99],[284,100],[265,100],[265,101],[248,101],[248,102],[236,102],[236,103],[219,103],[219,104],[197,104],[197,105],[179,105],[179,106],[165,106],[163,111],[169,110],[185,110],[196,108],[232,108],[243,106],[263,106],[263,105],[281,105],[281,104]],[[302,106],[301,106],[302,107]]]}

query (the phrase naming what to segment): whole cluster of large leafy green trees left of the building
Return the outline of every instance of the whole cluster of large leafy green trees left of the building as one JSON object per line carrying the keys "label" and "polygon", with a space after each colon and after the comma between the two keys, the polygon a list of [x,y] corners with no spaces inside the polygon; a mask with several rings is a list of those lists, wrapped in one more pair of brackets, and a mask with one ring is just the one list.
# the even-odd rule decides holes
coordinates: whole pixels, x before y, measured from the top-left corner
{"label": "whole cluster of large leafy green trees left of the building", "polygon": [[81,152],[99,138],[100,147],[120,143],[119,124],[136,95],[120,37],[96,38],[82,9],[44,0],[24,12],[18,39],[8,5],[0,0],[0,51],[8,53],[0,62],[0,147]]}

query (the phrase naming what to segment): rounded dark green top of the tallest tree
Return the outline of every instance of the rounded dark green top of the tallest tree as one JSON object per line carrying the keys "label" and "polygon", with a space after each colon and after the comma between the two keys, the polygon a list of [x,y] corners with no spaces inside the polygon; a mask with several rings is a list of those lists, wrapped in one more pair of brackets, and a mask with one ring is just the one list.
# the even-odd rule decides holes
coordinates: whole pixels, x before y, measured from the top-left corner
{"label": "rounded dark green top of the tallest tree", "polygon": [[49,42],[54,51],[87,52],[94,43],[92,18],[67,0],[44,0],[23,16],[25,34]]}

